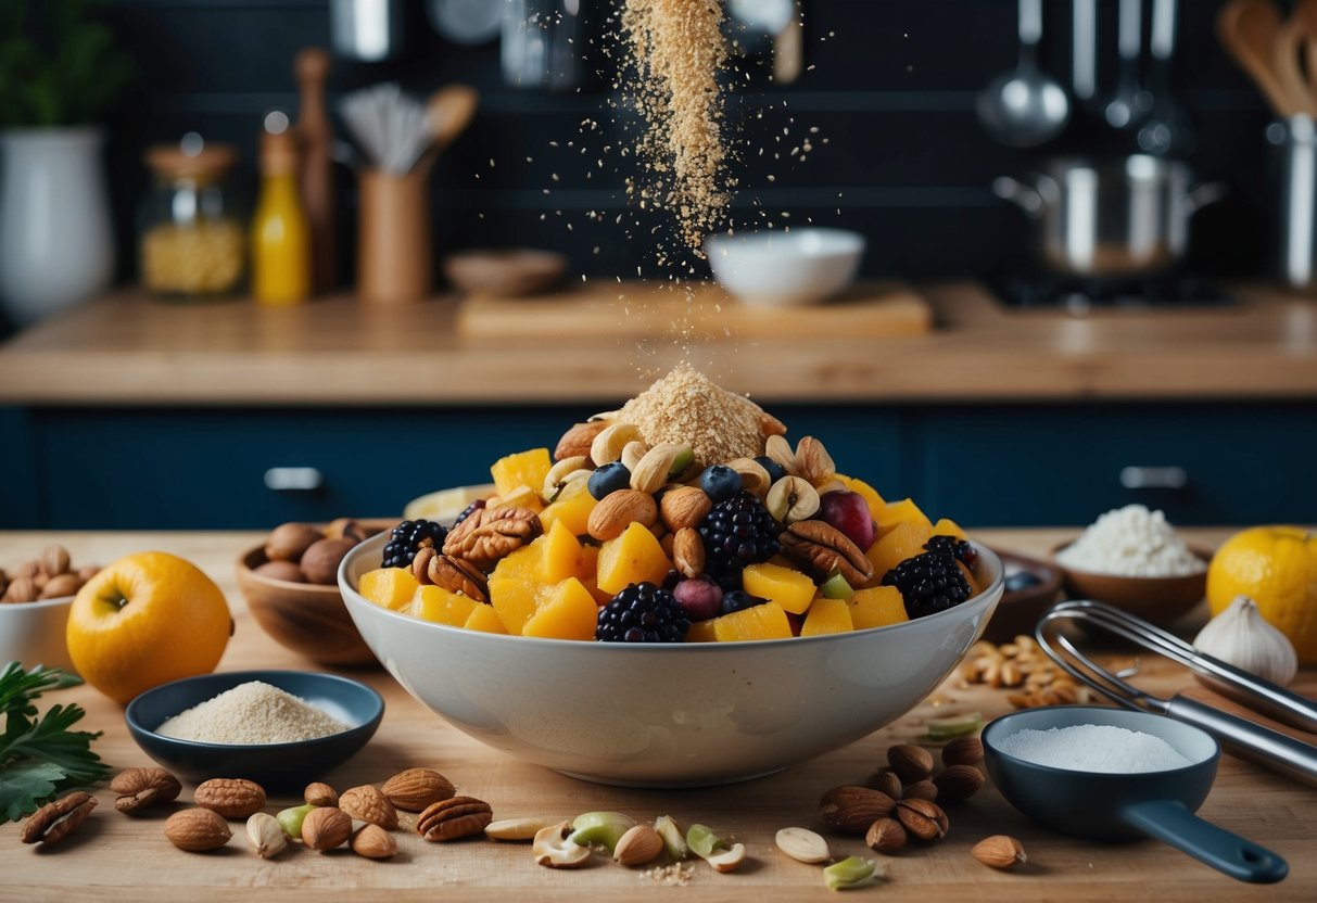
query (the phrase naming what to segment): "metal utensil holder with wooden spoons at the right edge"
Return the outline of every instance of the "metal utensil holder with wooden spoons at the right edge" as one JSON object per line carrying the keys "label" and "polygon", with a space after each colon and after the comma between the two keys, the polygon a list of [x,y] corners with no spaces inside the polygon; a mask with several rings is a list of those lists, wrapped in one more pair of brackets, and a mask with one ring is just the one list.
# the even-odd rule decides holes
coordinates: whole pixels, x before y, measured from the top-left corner
{"label": "metal utensil holder with wooden spoons at the right edge", "polygon": [[1280,278],[1293,288],[1317,287],[1317,126],[1306,113],[1274,125],[1280,146]]}

